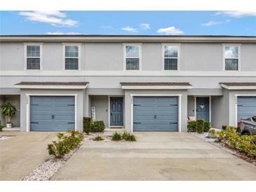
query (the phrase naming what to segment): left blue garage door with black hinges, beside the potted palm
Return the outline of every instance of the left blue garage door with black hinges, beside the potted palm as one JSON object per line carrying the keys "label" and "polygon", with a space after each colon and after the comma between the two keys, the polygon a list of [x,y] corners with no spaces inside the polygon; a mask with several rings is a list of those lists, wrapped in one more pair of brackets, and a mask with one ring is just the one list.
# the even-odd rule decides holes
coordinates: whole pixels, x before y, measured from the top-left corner
{"label": "left blue garage door with black hinges, beside the potted palm", "polygon": [[74,130],[74,97],[30,98],[30,130]]}

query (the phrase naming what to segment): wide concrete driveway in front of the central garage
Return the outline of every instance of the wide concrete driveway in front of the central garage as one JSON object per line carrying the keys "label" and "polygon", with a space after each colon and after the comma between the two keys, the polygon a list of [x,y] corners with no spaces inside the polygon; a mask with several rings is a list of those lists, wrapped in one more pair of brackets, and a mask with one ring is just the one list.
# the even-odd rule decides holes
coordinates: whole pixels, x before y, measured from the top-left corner
{"label": "wide concrete driveway in front of the central garage", "polygon": [[84,143],[53,180],[256,179],[256,166],[189,133],[135,135],[132,143]]}

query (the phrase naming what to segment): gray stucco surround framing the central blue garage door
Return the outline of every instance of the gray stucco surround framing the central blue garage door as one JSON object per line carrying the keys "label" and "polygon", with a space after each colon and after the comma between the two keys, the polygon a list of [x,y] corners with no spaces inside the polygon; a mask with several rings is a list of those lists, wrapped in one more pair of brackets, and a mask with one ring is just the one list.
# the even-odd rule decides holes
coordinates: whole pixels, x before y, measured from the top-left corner
{"label": "gray stucco surround framing the central blue garage door", "polygon": [[126,90],[125,91],[125,128],[128,132],[131,131],[131,105],[132,97],[131,94],[147,94],[147,95],[180,95],[181,97],[181,131],[187,132],[187,90]]}

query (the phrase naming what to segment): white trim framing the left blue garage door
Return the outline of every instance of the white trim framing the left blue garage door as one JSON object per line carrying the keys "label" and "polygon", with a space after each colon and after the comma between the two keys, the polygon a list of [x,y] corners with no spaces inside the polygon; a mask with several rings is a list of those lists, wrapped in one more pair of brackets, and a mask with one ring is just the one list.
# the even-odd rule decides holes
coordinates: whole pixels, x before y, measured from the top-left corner
{"label": "white trim framing the left blue garage door", "polygon": [[77,130],[76,125],[77,125],[77,118],[76,118],[76,105],[77,105],[77,94],[41,94],[41,93],[28,93],[26,94],[27,97],[27,128],[26,131],[29,132],[30,131],[30,96],[74,96],[74,130]]}

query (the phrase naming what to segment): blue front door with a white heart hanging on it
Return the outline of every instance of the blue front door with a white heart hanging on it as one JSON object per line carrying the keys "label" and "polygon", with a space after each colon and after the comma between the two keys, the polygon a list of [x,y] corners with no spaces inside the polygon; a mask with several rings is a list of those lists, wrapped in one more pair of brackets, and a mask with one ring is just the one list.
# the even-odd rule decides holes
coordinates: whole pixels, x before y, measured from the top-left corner
{"label": "blue front door with a white heart hanging on it", "polygon": [[196,97],[196,119],[210,121],[209,110],[209,97]]}

